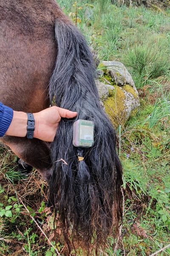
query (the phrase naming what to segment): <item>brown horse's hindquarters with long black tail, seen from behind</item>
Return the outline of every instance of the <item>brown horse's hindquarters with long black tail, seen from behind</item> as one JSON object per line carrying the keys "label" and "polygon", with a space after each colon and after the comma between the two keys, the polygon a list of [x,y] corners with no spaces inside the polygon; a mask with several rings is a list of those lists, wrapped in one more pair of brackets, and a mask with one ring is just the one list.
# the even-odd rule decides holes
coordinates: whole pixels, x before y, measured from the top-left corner
{"label": "brown horse's hindquarters with long black tail, seen from behind", "polygon": [[[0,138],[48,182],[48,201],[61,224],[68,255],[75,239],[88,252],[91,244],[96,252],[105,247],[111,233],[118,236],[122,221],[118,141],[100,104],[95,73],[84,36],[56,1],[0,1],[0,101],[15,111],[34,113],[56,104],[78,112],[71,120],[62,118],[52,143]],[[72,143],[78,119],[94,122],[90,148]],[[78,161],[80,154],[83,161]]]}

